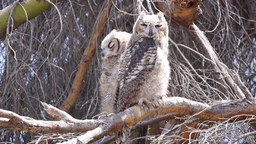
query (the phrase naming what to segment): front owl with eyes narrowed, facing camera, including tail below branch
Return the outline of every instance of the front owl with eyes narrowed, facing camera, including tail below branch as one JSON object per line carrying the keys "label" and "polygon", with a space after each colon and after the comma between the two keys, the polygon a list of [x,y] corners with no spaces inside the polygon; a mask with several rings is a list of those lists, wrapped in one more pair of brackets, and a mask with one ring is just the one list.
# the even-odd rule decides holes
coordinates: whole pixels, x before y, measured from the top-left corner
{"label": "front owl with eyes narrowed, facing camera, including tail below branch", "polygon": [[[122,55],[116,93],[116,113],[136,103],[157,105],[165,97],[170,79],[168,26],[163,13],[142,12]],[[116,134],[116,143],[125,141],[130,128]]]}

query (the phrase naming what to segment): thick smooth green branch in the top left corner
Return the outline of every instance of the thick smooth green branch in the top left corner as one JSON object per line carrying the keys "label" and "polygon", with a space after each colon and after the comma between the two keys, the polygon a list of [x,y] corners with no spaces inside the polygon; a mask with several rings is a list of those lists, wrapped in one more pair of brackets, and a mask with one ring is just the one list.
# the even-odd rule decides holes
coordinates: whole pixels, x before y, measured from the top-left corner
{"label": "thick smooth green branch in the top left corner", "polygon": [[[52,3],[60,2],[61,0],[49,0]],[[15,7],[14,7],[15,6]],[[27,20],[34,19],[39,14],[43,13],[45,10],[49,9],[52,6],[47,1],[38,1],[38,0],[23,0],[19,2],[17,5],[11,4],[5,7],[3,10],[0,10],[0,39],[4,38],[6,29],[11,31],[25,23]],[[7,20],[9,15],[12,13],[12,22],[10,23],[9,28],[7,26]]]}

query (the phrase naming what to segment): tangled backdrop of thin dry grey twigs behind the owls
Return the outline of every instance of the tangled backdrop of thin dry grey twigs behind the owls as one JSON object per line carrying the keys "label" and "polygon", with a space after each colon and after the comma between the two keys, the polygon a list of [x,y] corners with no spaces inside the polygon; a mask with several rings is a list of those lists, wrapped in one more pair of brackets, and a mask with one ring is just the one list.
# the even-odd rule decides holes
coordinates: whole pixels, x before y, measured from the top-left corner
{"label": "tangled backdrop of thin dry grey twigs behind the owls", "polygon": [[[15,2],[2,0],[0,9]],[[97,27],[95,22],[103,3],[100,0],[56,3],[56,6],[0,40],[1,109],[35,119],[53,120],[45,114],[40,101],[62,107],[71,91],[93,28]],[[136,4],[132,1],[113,1],[104,34],[97,41],[101,42],[112,29],[131,33],[137,18],[134,15],[137,14]],[[147,7],[146,3],[143,4]],[[203,15],[195,22],[204,31],[219,59],[239,74],[253,97],[256,96],[255,6],[252,0],[203,1],[200,6]],[[166,15],[170,38],[177,44],[190,47],[179,45],[177,49],[169,42],[170,95],[203,103],[238,100],[236,93],[228,88],[228,94],[221,91],[221,85],[214,80],[207,60],[190,50],[197,50],[197,46],[191,41],[186,28],[175,25],[169,16]],[[77,119],[91,119],[99,110],[100,45],[95,44],[94,57],[82,79],[81,92],[75,107],[70,110]],[[206,130],[194,130],[198,132],[195,142],[222,143],[242,134],[250,135],[253,130],[249,123],[253,121],[255,116],[249,116],[246,122],[204,122],[202,125],[214,124]],[[35,134],[5,129],[0,134],[0,141],[13,143],[27,143],[36,138]],[[69,138],[68,135],[66,137]],[[169,139],[166,137],[165,142],[170,142]],[[255,143],[255,136],[244,137],[240,142],[246,141]]]}

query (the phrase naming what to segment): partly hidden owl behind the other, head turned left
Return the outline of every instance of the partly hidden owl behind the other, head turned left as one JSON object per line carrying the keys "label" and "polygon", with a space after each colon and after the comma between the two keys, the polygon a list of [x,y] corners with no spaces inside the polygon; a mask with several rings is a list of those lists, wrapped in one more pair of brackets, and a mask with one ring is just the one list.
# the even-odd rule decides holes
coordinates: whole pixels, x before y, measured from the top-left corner
{"label": "partly hidden owl behind the other, head turned left", "polygon": [[131,34],[115,29],[101,43],[102,74],[100,77],[101,113],[114,113],[114,97],[119,74],[119,61]]}

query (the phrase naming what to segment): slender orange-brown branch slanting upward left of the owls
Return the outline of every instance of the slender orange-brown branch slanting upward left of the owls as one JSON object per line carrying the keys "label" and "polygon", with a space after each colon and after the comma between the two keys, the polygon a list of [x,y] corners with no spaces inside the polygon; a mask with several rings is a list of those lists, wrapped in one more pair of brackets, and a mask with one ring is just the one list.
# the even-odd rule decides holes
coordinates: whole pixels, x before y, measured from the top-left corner
{"label": "slender orange-brown branch slanting upward left of the owls", "polygon": [[62,107],[60,108],[63,111],[69,112],[70,109],[75,105],[78,98],[78,94],[81,91],[83,85],[83,78],[86,74],[86,70],[90,65],[90,62],[93,58],[96,45],[99,43],[101,36],[104,33],[104,28],[106,27],[109,13],[111,11],[113,3],[109,0],[106,0],[102,6],[102,11],[98,15],[98,21],[95,22],[93,34],[91,36],[89,44],[87,44],[86,49],[83,53],[83,57],[79,63],[76,77],[74,79],[71,90],[68,94],[67,99],[63,102]]}

